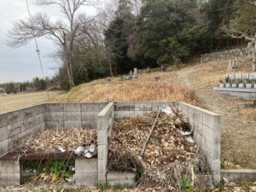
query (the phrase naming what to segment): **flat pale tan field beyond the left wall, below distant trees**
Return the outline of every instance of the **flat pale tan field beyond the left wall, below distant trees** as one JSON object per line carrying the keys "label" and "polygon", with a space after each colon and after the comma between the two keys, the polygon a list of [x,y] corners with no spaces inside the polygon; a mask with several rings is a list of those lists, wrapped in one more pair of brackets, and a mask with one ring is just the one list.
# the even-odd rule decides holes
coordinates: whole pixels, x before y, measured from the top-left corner
{"label": "flat pale tan field beyond the left wall, below distant trees", "polygon": [[[61,93],[61,91],[49,91],[49,98],[54,99],[56,96],[60,96]],[[47,101],[48,97],[46,91],[0,96],[0,113],[30,107]]]}

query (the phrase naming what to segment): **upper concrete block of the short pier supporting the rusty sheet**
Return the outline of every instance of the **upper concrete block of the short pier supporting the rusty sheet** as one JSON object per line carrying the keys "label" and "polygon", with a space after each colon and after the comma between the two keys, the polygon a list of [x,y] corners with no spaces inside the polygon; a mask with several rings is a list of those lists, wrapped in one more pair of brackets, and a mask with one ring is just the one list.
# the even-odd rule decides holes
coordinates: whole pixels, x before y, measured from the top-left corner
{"label": "upper concrete block of the short pier supporting the rusty sheet", "polygon": [[75,160],[76,173],[97,173],[98,160],[93,159],[76,159]]}

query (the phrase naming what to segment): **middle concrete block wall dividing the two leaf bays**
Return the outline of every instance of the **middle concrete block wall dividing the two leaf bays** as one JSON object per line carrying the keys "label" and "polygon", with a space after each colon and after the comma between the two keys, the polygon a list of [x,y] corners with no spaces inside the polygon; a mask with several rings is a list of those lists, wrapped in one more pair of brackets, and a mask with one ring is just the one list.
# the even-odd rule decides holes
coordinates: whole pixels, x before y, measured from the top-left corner
{"label": "middle concrete block wall dividing the two leaf bays", "polygon": [[108,137],[111,135],[114,118],[114,104],[108,103],[97,115],[98,137],[98,183],[106,183],[108,166]]}

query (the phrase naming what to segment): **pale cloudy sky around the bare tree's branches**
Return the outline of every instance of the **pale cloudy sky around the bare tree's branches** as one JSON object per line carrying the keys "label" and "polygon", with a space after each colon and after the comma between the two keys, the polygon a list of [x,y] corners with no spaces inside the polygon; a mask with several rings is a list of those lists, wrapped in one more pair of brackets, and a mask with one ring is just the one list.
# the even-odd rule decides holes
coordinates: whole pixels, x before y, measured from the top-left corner
{"label": "pale cloudy sky around the bare tree's branches", "polygon": [[[99,2],[99,0],[95,0]],[[28,0],[32,14],[43,11],[53,18],[61,15],[54,7],[38,7],[34,5],[34,0]],[[84,8],[87,14],[93,15],[96,10]],[[8,30],[12,27],[12,21],[27,18],[25,0],[0,0],[0,83],[9,81],[25,81],[34,77],[42,77],[38,62],[35,44],[32,41],[26,46],[12,49],[6,44]],[[38,39],[38,46],[44,65],[44,72],[47,76],[52,76],[59,63],[56,63],[49,55],[55,52],[55,44],[48,39]]]}

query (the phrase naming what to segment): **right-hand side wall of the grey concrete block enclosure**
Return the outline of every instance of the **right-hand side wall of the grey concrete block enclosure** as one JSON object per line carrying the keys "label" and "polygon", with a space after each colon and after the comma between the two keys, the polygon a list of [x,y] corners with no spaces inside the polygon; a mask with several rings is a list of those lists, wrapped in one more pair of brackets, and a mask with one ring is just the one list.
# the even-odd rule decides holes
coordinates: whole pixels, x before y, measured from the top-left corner
{"label": "right-hand side wall of the grey concrete block enclosure", "polygon": [[195,142],[207,155],[208,164],[212,169],[213,183],[219,183],[221,116],[184,102],[180,102],[178,108],[189,117]]}

